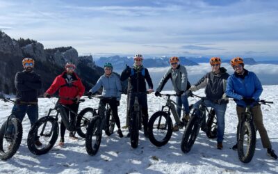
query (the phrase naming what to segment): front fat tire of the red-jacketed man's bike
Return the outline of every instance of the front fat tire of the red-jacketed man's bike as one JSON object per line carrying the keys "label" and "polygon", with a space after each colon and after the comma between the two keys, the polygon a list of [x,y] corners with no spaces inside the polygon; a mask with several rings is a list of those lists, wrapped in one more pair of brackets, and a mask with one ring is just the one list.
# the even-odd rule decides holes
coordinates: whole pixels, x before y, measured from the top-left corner
{"label": "front fat tire of the red-jacketed man's bike", "polygon": [[[51,129],[53,129],[53,132],[52,132],[49,143],[44,148],[40,149],[40,148],[37,148],[35,145],[35,137],[39,136],[38,134],[40,134],[40,133],[38,133],[38,128],[40,127],[40,125],[43,125],[44,122],[51,123],[51,125],[52,125]],[[53,146],[55,145],[55,143],[58,139],[58,134],[59,134],[59,127],[58,127],[57,120],[51,116],[42,117],[37,122],[35,122],[35,124],[31,127],[31,129],[28,133],[28,139],[27,139],[28,149],[34,155],[44,155],[47,152],[49,152],[49,150],[51,150],[51,148],[53,148]]]}

